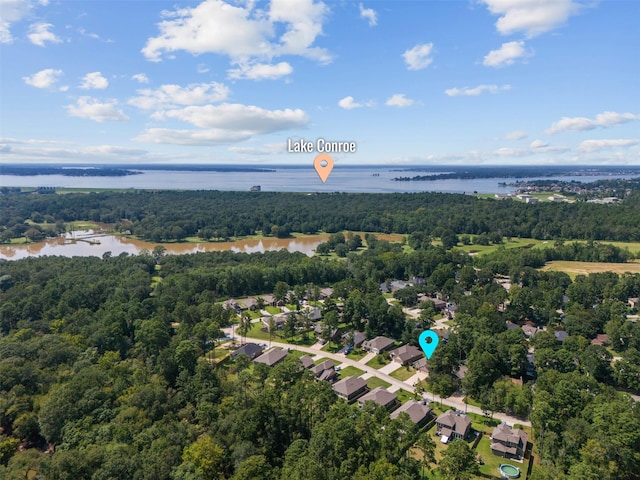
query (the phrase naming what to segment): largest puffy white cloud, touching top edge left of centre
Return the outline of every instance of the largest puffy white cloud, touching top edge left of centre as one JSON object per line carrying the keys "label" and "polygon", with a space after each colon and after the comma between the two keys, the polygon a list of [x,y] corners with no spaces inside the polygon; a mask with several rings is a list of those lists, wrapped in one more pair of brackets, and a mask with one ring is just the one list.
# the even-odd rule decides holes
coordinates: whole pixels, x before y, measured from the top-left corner
{"label": "largest puffy white cloud, touching top edge left of centre", "polygon": [[254,7],[253,1],[232,5],[205,0],[193,8],[165,11],[165,20],[158,24],[160,34],[147,40],[142,53],[151,61],[160,61],[163,53],[180,50],[193,55],[227,55],[234,64],[271,60],[280,55],[331,61],[325,49],[313,46],[322,34],[328,13],[324,3],[271,0],[268,11]]}

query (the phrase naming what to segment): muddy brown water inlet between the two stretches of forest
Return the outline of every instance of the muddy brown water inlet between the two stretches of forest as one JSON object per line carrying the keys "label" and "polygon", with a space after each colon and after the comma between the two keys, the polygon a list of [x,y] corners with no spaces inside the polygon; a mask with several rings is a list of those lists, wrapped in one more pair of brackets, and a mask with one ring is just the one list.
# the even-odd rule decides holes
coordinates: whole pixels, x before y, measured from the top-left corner
{"label": "muddy brown water inlet between the two stretches of forest", "polygon": [[[398,242],[402,235],[376,235],[381,240]],[[307,256],[315,253],[316,247],[326,241],[329,235],[306,235],[292,238],[252,238],[234,242],[202,243],[164,243],[161,244],[169,255],[197,252],[266,252],[286,249],[290,252],[302,252]],[[65,236],[50,238],[28,245],[0,245],[0,259],[19,260],[26,257],[61,255],[64,257],[102,257],[106,252],[113,256],[121,253],[136,255],[144,250],[153,251],[160,244],[143,242],[120,235],[96,233],[93,230],[78,230]]]}

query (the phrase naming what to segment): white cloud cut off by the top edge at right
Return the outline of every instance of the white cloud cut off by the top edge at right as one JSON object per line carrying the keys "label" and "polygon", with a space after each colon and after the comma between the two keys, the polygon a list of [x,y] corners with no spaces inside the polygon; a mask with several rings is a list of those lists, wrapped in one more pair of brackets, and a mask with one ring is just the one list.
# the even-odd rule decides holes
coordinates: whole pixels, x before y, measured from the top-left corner
{"label": "white cloud cut off by the top edge at right", "polygon": [[502,35],[524,32],[529,38],[563,25],[582,5],[573,0],[480,0],[500,18],[496,29]]}

